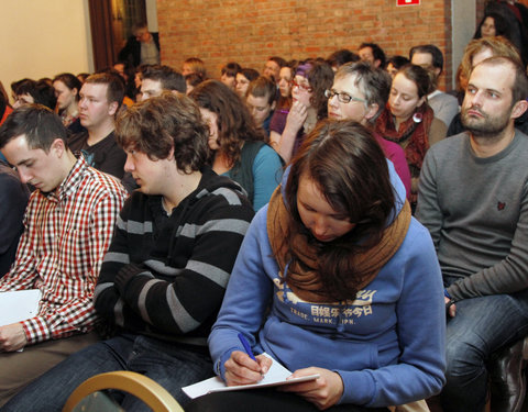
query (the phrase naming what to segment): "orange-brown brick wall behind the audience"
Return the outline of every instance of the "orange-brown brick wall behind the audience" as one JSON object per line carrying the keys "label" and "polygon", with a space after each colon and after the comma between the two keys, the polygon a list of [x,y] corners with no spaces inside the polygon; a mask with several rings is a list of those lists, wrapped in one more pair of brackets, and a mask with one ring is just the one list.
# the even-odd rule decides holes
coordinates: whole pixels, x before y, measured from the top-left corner
{"label": "orange-brown brick wall behind the audience", "polygon": [[[451,58],[451,0],[157,0],[164,64],[200,57],[210,77],[234,60],[262,70],[266,58],[327,57],[374,42],[387,55],[433,43]],[[451,83],[450,65],[441,87]]]}

